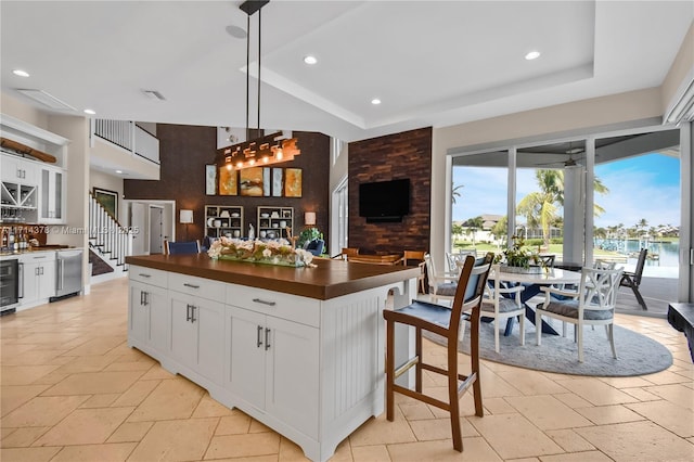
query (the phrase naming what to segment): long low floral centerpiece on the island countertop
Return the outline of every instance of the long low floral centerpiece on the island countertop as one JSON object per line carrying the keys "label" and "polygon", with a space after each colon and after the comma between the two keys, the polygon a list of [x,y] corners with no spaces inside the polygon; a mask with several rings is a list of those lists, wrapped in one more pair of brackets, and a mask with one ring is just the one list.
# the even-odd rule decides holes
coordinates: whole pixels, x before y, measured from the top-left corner
{"label": "long low floral centerpiece on the island countertop", "polygon": [[250,261],[287,267],[311,267],[313,255],[301,248],[294,248],[288,241],[242,241],[221,238],[209,246],[207,255],[214,259]]}

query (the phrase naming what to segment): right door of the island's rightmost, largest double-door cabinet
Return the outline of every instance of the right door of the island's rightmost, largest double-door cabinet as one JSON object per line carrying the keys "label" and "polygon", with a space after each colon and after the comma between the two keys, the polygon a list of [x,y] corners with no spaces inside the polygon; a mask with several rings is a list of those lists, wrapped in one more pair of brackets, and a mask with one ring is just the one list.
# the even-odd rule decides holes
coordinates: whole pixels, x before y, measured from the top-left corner
{"label": "right door of the island's rightmost, largest double-door cabinet", "polygon": [[316,328],[268,317],[266,409],[301,433],[318,438],[319,342]]}

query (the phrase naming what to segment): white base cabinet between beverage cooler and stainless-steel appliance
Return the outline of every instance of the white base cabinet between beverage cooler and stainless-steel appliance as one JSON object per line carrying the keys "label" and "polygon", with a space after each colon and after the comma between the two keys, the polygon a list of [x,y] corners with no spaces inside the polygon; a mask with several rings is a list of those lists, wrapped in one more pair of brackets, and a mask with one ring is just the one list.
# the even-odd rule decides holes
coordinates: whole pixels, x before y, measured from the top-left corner
{"label": "white base cabinet between beverage cooler and stainless-steel appliance", "polygon": [[20,307],[46,303],[55,295],[55,253],[20,256]]}

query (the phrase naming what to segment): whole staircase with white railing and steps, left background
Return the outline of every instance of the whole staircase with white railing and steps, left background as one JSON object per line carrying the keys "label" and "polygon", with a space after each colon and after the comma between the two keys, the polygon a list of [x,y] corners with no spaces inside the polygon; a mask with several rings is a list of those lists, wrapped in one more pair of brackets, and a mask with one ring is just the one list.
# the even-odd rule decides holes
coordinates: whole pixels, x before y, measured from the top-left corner
{"label": "whole staircase with white railing and steps, left background", "polygon": [[103,269],[101,262],[92,264],[91,283],[124,275],[128,270],[126,257],[132,255],[132,230],[120,226],[91,193],[89,193],[89,247],[94,254],[90,255],[90,259],[99,258],[113,269],[107,271]]}

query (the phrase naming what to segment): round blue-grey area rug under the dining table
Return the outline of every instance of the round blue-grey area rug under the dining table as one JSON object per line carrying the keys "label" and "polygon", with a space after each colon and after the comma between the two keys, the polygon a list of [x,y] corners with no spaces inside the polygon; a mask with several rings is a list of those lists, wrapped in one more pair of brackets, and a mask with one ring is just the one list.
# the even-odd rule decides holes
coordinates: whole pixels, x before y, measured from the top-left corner
{"label": "round blue-grey area rug under the dining table", "polygon": [[[617,359],[612,357],[612,348],[607,341],[605,328],[590,326],[583,330],[583,361],[578,362],[578,346],[574,343],[573,325],[568,326],[568,335],[542,335],[542,344],[535,343],[535,325],[526,322],[525,346],[520,346],[518,325],[512,335],[500,336],[500,350],[494,351],[494,324],[481,323],[479,329],[479,355],[483,359],[503,364],[538,371],[556,372],[574,375],[595,375],[619,377],[652,374],[663,371],[672,364],[670,351],[656,341],[645,335],[615,325],[615,347]],[[467,324],[470,329],[470,324]],[[459,350],[470,354],[470,331],[460,342]],[[561,330],[561,326],[560,326]],[[561,332],[561,331],[560,331]],[[426,332],[426,337],[445,345],[446,339]]]}

